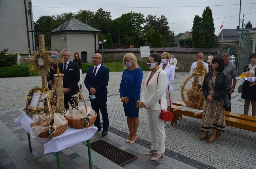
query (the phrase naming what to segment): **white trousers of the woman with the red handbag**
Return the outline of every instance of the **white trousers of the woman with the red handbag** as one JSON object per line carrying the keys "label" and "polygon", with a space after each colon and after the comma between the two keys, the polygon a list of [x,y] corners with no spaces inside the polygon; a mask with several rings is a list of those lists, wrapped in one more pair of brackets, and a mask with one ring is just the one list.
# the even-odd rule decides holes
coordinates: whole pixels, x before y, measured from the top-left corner
{"label": "white trousers of the woman with the red handbag", "polygon": [[151,130],[151,150],[157,150],[158,154],[164,153],[165,150],[164,121],[159,118],[160,112],[161,110],[147,109],[149,127]]}

